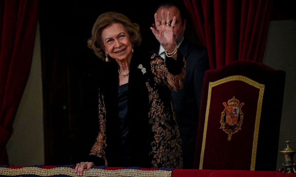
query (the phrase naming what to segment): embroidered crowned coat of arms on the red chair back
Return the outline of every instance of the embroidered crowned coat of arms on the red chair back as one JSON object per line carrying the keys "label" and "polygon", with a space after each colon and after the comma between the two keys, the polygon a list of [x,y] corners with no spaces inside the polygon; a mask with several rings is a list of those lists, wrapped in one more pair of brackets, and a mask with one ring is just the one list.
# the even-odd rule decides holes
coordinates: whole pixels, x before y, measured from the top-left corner
{"label": "embroidered crowned coat of arms on the red chair back", "polygon": [[244,103],[239,104],[239,100],[233,97],[227,101],[227,104],[226,102],[223,102],[225,109],[221,112],[220,128],[228,134],[228,141],[230,141],[231,135],[241,130],[242,120],[244,117],[241,108]]}

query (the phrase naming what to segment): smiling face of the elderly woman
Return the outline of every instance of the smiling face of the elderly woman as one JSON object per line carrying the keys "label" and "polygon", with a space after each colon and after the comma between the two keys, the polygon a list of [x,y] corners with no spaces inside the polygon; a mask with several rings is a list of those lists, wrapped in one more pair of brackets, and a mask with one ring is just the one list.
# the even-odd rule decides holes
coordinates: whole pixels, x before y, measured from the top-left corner
{"label": "smiling face of the elderly woman", "polygon": [[131,39],[120,23],[114,23],[102,31],[104,51],[116,60],[130,59],[132,56]]}

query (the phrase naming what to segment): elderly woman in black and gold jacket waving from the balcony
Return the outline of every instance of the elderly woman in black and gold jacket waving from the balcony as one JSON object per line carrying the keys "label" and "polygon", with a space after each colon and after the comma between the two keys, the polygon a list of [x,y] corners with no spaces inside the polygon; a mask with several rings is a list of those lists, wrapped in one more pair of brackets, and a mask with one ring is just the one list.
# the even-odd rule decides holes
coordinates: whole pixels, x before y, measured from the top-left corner
{"label": "elderly woman in black and gold jacket waving from the balcony", "polygon": [[96,165],[181,168],[181,140],[171,91],[182,88],[185,59],[173,41],[176,17],[169,12],[161,22],[155,14],[156,39],[165,48],[166,61],[157,54],[137,51],[139,25],[123,14],[101,14],[88,46],[104,60],[99,69],[100,131],[89,162],[75,172]]}

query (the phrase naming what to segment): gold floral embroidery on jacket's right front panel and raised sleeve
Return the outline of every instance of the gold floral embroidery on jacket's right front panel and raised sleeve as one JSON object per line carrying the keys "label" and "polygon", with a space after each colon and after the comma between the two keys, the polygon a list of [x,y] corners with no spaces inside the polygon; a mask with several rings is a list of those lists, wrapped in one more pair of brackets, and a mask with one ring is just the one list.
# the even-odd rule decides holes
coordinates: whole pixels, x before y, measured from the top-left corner
{"label": "gold floral embroidery on jacket's right front panel and raised sleeve", "polygon": [[[155,78],[155,85],[157,83],[165,83],[170,90],[179,90],[182,88],[182,79],[185,70],[179,75],[172,75],[168,73],[165,63],[162,59],[152,56],[152,72],[157,76]],[[163,71],[161,71],[163,70]],[[184,72],[184,73],[183,73]],[[176,81],[176,83],[175,83]],[[176,123],[173,112],[173,104],[170,103],[170,108],[164,106],[163,100],[158,94],[158,90],[150,86],[146,82],[149,92],[149,123],[152,125],[152,132],[154,139],[152,141],[152,165],[153,168],[182,168],[182,151],[181,138],[178,125]]]}

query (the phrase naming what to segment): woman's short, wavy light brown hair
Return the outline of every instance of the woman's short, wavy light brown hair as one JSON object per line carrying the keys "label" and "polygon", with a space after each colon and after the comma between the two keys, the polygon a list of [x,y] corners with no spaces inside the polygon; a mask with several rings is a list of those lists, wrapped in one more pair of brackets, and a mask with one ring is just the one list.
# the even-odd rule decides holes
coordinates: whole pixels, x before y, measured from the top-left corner
{"label": "woman's short, wavy light brown hair", "polygon": [[104,43],[102,40],[102,31],[106,27],[114,23],[123,24],[126,31],[128,32],[129,37],[131,38],[131,43],[133,45],[139,47],[139,45],[141,44],[142,38],[138,24],[132,23],[128,17],[120,13],[106,12],[104,14],[101,14],[94,23],[94,27],[91,31],[91,38],[87,40],[87,45],[102,60],[104,60],[105,58],[105,52],[103,50]]}

